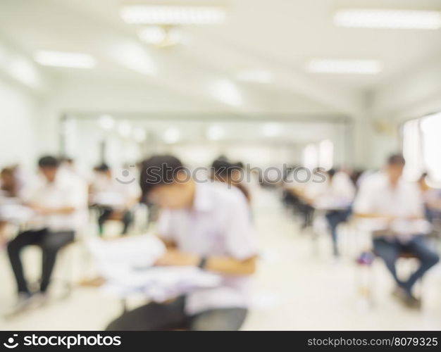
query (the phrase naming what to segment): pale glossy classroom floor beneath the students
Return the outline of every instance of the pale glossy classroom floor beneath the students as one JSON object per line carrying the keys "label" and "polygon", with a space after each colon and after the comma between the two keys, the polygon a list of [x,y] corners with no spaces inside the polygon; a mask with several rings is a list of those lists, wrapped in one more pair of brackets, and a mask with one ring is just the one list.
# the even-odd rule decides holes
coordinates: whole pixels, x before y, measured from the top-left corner
{"label": "pale glossy classroom floor beneath the students", "polygon": [[[261,260],[252,308],[243,329],[441,329],[441,265],[424,279],[421,311],[409,310],[392,298],[393,283],[380,260],[371,270],[356,265],[354,258],[369,243],[361,232],[342,229],[343,255],[336,261],[330,256],[328,236],[320,234],[320,219],[314,232],[319,233],[317,238],[312,231],[300,231],[298,221],[282,208],[277,192],[259,191],[254,219]],[[82,277],[82,268],[89,268],[89,261],[80,246],[75,246],[69,255],[80,263],[74,268],[75,277]],[[32,265],[38,263],[38,256],[37,249],[25,253],[30,276],[38,274],[39,268]],[[66,263],[58,264],[57,275],[63,274]],[[402,263],[399,269],[411,270],[411,265]],[[3,316],[14,299],[4,251],[0,253],[0,268]],[[371,289],[371,299],[363,294],[364,287]],[[13,319],[0,318],[0,329],[102,329],[120,310],[117,298],[96,288],[77,287],[68,298],[52,298],[44,308]]]}

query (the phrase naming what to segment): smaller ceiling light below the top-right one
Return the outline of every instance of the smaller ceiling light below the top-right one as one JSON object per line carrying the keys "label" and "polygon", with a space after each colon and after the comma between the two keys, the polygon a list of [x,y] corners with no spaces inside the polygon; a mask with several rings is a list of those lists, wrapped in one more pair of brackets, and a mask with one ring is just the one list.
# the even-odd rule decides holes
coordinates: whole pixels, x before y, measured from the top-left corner
{"label": "smaller ceiling light below the top-right one", "polygon": [[375,75],[381,71],[381,64],[375,60],[345,60],[316,58],[306,68],[314,73],[359,73]]}

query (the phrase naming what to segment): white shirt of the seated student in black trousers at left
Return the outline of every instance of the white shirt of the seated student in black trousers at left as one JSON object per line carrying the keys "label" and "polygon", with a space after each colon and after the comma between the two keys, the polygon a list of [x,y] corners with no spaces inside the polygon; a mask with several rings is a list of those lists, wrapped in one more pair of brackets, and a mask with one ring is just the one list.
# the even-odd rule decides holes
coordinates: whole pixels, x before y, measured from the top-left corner
{"label": "white shirt of the seated student in black trousers at left", "polygon": [[51,231],[79,230],[87,220],[87,184],[61,169],[54,182],[39,177],[28,191],[25,201],[47,208],[73,207],[68,214],[37,215],[30,222],[33,228],[48,227]]}

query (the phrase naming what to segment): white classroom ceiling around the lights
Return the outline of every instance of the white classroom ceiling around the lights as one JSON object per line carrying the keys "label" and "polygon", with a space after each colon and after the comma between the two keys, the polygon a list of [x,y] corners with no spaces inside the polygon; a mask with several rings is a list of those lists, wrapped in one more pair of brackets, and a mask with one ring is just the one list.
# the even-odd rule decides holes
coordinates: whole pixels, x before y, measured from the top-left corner
{"label": "white classroom ceiling around the lights", "polygon": [[[198,4],[197,0],[168,2]],[[352,104],[359,103],[357,94],[422,65],[438,54],[441,44],[440,30],[356,29],[335,27],[332,22],[333,11],[340,7],[441,11],[440,0],[199,1],[209,3],[228,7],[227,22],[188,27],[189,45],[162,51],[142,44],[137,27],[120,19],[120,0],[1,0],[0,34],[30,55],[53,49],[87,52],[98,59],[97,68],[87,73],[45,69],[56,77],[82,77],[85,82],[90,77],[142,80],[206,99],[202,87],[209,80],[234,79],[241,68],[259,68],[270,70],[274,80],[241,84],[248,99],[244,106],[260,106],[264,99],[262,109],[285,112],[306,101],[320,111],[325,106],[330,112],[349,114],[354,111]],[[124,66],[126,58],[140,51],[145,59],[142,75]],[[378,75],[318,75],[304,70],[310,58],[376,59],[384,68]],[[147,72],[150,69],[156,73]]]}

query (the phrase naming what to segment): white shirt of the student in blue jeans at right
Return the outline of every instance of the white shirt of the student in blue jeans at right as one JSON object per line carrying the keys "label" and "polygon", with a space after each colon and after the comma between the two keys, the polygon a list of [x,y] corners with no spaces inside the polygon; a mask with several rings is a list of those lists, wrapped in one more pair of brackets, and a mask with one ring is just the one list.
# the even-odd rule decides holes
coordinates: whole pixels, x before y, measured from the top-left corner
{"label": "white shirt of the student in blue jeans at right", "polygon": [[[361,182],[354,201],[354,213],[395,217],[397,220],[392,222],[392,230],[395,232],[423,234],[430,230],[426,220],[409,220],[424,217],[423,199],[418,185],[399,180],[396,187],[392,187],[385,172],[376,172]],[[387,222],[376,220],[374,227],[373,230],[385,230]]]}

